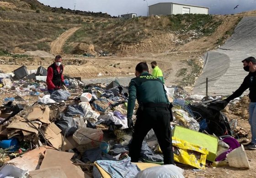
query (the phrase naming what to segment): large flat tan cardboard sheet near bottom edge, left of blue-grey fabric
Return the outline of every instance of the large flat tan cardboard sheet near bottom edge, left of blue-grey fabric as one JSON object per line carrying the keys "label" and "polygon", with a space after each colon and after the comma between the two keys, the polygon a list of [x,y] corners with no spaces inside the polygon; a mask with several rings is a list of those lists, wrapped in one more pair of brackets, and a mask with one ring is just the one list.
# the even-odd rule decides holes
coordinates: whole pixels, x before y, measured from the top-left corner
{"label": "large flat tan cardboard sheet near bottom edge, left of blue-grey fabric", "polygon": [[80,168],[76,167],[70,159],[73,157],[74,153],[69,152],[59,152],[56,150],[48,149],[46,150],[43,162],[40,169],[51,168],[54,166],[59,166],[63,169],[67,178],[87,178],[86,175]]}

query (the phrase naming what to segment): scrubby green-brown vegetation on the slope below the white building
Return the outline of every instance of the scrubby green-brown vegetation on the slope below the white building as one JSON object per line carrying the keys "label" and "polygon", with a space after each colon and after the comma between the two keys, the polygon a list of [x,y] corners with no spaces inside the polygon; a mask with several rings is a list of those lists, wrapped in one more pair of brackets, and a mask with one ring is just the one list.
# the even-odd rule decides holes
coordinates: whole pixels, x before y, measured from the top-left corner
{"label": "scrubby green-brown vegetation on the slope below the white building", "polygon": [[69,44],[81,42],[94,44],[95,49],[115,52],[120,44],[133,45],[142,40],[164,32],[176,32],[179,37],[190,37],[187,32],[194,31],[193,38],[208,36],[222,23],[211,15],[185,14],[171,16],[137,17],[129,20],[118,19],[87,23],[76,31],[66,42],[64,52],[70,50]]}

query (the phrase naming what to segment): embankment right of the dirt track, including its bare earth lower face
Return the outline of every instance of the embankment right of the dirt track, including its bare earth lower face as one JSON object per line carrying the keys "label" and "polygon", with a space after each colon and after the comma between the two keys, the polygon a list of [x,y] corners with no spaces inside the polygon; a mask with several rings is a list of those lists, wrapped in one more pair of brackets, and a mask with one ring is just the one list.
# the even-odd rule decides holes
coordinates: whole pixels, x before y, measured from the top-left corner
{"label": "embankment right of the dirt track, including its bare earth lower face", "polygon": [[92,44],[96,51],[122,54],[164,52],[193,39],[210,36],[223,21],[211,15],[185,14],[90,23],[69,38],[64,52],[77,53],[81,44]]}

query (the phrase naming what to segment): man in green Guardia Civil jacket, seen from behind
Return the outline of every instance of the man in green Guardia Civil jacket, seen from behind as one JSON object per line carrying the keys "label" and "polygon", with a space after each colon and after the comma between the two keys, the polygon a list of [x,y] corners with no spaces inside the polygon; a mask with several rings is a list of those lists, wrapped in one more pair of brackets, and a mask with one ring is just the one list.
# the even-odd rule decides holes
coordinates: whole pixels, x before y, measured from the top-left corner
{"label": "man in green Guardia Civil jacket, seen from behind", "polygon": [[[128,127],[134,128],[133,139],[129,148],[132,162],[139,161],[144,137],[153,129],[164,155],[164,164],[174,164],[171,143],[170,102],[162,81],[149,74],[147,63],[141,62],[135,68],[136,78],[129,84],[127,121]],[[139,103],[137,120],[133,127],[133,109],[135,99]]]}

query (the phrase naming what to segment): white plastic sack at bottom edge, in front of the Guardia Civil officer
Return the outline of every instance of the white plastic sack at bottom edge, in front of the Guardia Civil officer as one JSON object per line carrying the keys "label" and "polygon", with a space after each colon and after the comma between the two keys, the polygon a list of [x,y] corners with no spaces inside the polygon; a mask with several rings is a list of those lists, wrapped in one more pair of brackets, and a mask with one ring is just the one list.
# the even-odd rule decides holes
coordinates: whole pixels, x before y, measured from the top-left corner
{"label": "white plastic sack at bottom edge, in front of the Guardia Civil officer", "polygon": [[135,178],[184,178],[183,172],[183,169],[172,164],[167,164],[144,169]]}

